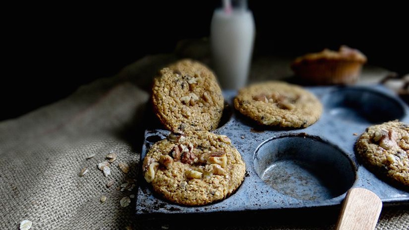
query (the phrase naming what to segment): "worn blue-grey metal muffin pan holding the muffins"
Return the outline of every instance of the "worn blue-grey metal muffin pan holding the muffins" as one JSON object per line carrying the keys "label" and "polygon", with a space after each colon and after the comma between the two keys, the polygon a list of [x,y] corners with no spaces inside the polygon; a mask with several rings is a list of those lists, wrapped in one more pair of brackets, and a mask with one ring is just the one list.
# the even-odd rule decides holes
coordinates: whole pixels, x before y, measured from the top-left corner
{"label": "worn blue-grey metal muffin pan holding the muffins", "polygon": [[[377,194],[384,205],[408,204],[409,191],[387,183],[355,157],[354,144],[368,126],[409,121],[409,108],[382,85],[304,87],[323,104],[319,120],[303,129],[261,127],[234,109],[236,91],[225,91],[224,118],[214,133],[227,135],[246,163],[245,179],[217,203],[188,207],[166,201],[139,173],[136,213],[180,214],[276,210],[340,205],[352,187]],[[169,131],[147,129],[141,162]],[[140,171],[140,169],[139,169]]]}

